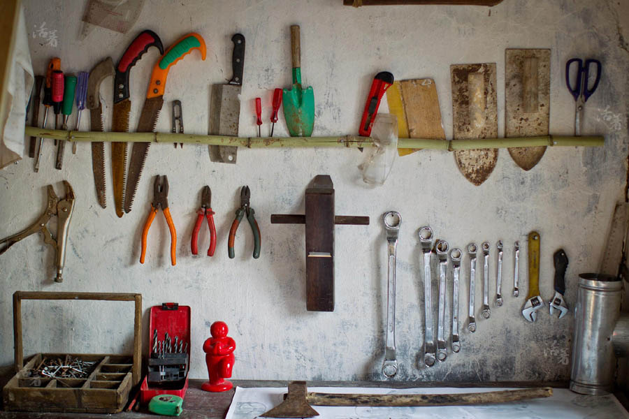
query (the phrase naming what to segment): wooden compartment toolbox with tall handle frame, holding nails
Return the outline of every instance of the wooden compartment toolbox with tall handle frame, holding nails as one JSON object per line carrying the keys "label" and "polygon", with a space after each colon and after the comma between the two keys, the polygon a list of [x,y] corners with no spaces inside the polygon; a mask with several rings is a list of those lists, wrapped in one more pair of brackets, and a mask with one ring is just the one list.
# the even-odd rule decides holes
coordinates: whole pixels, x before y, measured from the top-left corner
{"label": "wooden compartment toolbox with tall handle frame, holding nails", "polygon": [[[38,353],[24,365],[22,351],[22,300],[134,301],[133,355]],[[117,413],[129,392],[140,382],[142,346],[142,295],[125,293],[46,293],[17,291],[13,294],[13,334],[17,374],[3,388],[4,409],[34,412]],[[29,377],[43,358],[81,358],[94,362],[87,378]]]}

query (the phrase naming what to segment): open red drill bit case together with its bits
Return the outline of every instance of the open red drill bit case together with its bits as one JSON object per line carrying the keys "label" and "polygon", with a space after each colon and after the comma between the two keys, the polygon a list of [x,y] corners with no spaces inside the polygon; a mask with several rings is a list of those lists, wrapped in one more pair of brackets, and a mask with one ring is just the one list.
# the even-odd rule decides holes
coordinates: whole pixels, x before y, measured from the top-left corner
{"label": "open red drill bit case together with its bits", "polygon": [[190,350],[190,307],[176,302],[151,307],[148,371],[140,386],[142,404],[158,395],[185,397]]}

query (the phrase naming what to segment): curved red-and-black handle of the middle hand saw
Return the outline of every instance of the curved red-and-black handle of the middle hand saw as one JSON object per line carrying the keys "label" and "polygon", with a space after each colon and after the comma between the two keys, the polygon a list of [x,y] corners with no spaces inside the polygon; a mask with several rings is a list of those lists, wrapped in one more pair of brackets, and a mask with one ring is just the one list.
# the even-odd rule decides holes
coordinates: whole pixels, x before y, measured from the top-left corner
{"label": "curved red-and-black handle of the middle hand saw", "polygon": [[150,47],[157,47],[159,54],[164,55],[164,45],[161,45],[161,39],[154,31],[142,31],[129,47],[126,48],[122,58],[116,66],[116,75],[114,78],[114,103],[122,102],[129,98],[129,73],[131,67],[136,63]]}

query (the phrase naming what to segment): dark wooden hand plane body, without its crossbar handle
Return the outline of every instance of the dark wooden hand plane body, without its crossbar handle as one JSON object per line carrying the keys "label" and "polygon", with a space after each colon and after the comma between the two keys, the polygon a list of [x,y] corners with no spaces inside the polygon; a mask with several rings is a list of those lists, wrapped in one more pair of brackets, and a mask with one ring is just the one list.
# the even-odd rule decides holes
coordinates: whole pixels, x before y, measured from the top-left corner
{"label": "dark wooden hand plane body, without its crossbar handle", "polygon": [[317,175],[305,191],[305,253],[306,309],[334,311],[334,189],[328,175]]}

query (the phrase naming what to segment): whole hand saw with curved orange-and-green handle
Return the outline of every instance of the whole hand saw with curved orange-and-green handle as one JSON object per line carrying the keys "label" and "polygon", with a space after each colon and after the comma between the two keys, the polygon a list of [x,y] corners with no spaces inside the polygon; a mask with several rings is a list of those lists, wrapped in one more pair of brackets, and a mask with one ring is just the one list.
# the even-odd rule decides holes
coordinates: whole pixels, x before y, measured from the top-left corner
{"label": "whole hand saw with curved orange-and-green handle", "polygon": [[[177,64],[185,55],[198,50],[201,52],[201,59],[205,59],[205,41],[199,34],[187,34],[179,38],[177,42],[171,45],[164,53],[164,56],[157,61],[153,67],[151,82],[146,94],[146,100],[142,112],[140,113],[140,121],[138,122],[138,133],[150,133],[154,131],[159,117],[161,106],[164,105],[164,88],[166,87],[166,78],[168,71],[172,66]],[[150,142],[134,142],[133,151],[131,152],[131,163],[129,163],[129,177],[126,179],[126,195],[124,196],[124,212],[131,211],[133,198],[136,196],[140,175],[144,168],[144,162],[148,154]]]}

